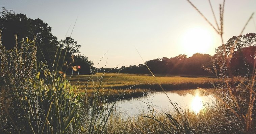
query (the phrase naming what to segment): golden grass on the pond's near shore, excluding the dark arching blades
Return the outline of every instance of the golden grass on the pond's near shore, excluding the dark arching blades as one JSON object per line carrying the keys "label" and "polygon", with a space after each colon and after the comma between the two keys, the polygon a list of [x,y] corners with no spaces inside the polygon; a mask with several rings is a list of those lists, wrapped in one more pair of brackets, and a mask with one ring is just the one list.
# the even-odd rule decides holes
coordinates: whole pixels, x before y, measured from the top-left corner
{"label": "golden grass on the pond's near shore, excluding the dark arching blades", "polygon": [[[225,111],[218,109],[206,108],[198,114],[193,111],[184,110],[184,117],[187,118],[193,133],[241,133],[239,129],[242,127],[234,116],[223,114]],[[142,113],[143,114],[143,113]],[[155,115],[155,119],[166,126],[173,126],[167,115],[164,113]],[[180,124],[182,119],[177,112],[170,112],[173,118]],[[143,114],[144,115],[144,114]],[[154,118],[152,114],[148,114]],[[184,118],[182,117],[182,118]],[[234,129],[236,128],[236,129]],[[168,129],[163,127],[157,121],[145,118],[144,116],[133,116],[131,118],[118,118],[118,115],[111,115],[108,120],[107,133],[125,133],[125,134],[147,134],[147,133],[170,133]]]}

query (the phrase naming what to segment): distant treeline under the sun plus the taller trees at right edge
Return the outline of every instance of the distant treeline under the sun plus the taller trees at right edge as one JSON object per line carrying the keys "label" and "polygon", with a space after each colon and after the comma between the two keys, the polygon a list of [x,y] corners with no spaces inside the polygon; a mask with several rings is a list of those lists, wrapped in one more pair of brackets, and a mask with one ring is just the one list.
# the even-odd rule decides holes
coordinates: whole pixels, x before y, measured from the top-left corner
{"label": "distant treeline under the sun plus the taller trees at right edge", "polygon": [[[233,44],[236,44],[232,48]],[[236,75],[246,75],[252,72],[254,60],[256,57],[256,34],[247,33],[242,36],[234,36],[225,44],[226,51],[234,51],[231,58],[231,71]],[[121,72],[121,73],[150,73],[147,66],[155,74],[172,74],[172,75],[213,75],[223,74],[228,76],[226,60],[222,46],[216,49],[216,54],[210,56],[208,54],[196,53],[191,57],[185,54],[171,58],[157,58],[146,61],[145,64],[131,65],[121,68],[105,68],[105,72]],[[215,68],[215,71],[214,71]],[[216,69],[218,68],[218,69]],[[222,70],[222,72],[216,72]],[[104,68],[98,68],[98,72],[103,72]]]}

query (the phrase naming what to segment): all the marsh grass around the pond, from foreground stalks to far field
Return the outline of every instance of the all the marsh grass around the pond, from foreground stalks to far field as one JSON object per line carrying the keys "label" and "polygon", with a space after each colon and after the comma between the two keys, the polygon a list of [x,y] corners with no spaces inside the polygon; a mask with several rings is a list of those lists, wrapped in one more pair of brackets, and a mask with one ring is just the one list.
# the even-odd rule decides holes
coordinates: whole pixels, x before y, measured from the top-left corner
{"label": "all the marsh grass around the pond, from foreground stalks to far field", "polygon": [[[193,3],[189,0],[188,2],[222,38],[225,0],[220,5],[220,25],[213,12],[216,28]],[[154,107],[147,104],[148,114],[142,113],[142,116],[127,119],[113,114],[114,104],[122,98],[143,95],[148,89],[162,90],[165,93],[164,89],[211,87],[212,84],[223,83],[223,80],[207,77],[155,76],[153,73],[153,77],[150,77],[119,72],[67,78],[65,71],[62,70],[62,75],[57,73],[57,67],[56,70],[51,71],[47,65],[36,63],[35,40],[27,39],[20,43],[16,40],[16,42],[16,47],[7,51],[0,41],[0,131],[2,133],[255,132],[256,71],[250,75],[252,77],[245,80],[232,75],[229,60],[235,44],[230,54],[224,51],[225,64],[230,75],[224,80],[227,85],[225,90],[230,96],[230,102],[216,95],[219,104],[196,114],[180,108],[167,96],[175,111],[154,114]],[[226,50],[224,43],[223,48]],[[65,63],[59,59],[54,60],[57,61],[56,65],[58,62]],[[235,85],[236,81],[239,82],[238,85]],[[109,109],[105,109],[110,100],[113,104]],[[223,104],[224,108],[220,108]]]}

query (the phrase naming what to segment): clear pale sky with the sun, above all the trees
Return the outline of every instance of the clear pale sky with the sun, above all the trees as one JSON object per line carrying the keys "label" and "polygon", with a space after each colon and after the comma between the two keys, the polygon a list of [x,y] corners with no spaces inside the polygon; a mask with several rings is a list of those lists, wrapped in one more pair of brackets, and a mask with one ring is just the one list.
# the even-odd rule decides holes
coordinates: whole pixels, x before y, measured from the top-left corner
{"label": "clear pale sky with the sun, above all the trees", "polygon": [[[191,0],[213,23],[208,0]],[[211,0],[217,20],[222,0]],[[82,45],[81,54],[98,67],[120,67],[194,53],[213,55],[220,37],[186,0],[1,0],[0,6],[40,18],[58,40],[70,36]],[[239,35],[256,0],[226,0],[224,40]],[[256,16],[254,16],[256,18]],[[256,21],[256,19],[254,19]],[[70,27],[71,26],[71,27]],[[70,27],[70,29],[69,29]],[[69,31],[68,31],[69,29]],[[244,33],[256,32],[251,21]]]}

